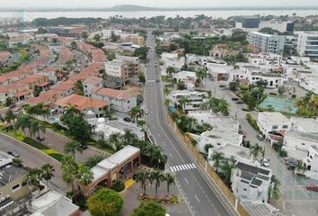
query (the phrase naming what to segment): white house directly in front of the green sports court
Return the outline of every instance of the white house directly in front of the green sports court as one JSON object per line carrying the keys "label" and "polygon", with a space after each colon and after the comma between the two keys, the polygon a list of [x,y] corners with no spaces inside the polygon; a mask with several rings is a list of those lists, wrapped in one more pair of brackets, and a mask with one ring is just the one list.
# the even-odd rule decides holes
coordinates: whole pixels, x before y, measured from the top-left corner
{"label": "white house directly in front of the green sports court", "polygon": [[276,131],[284,134],[290,129],[290,121],[280,112],[259,112],[257,124],[262,134],[269,138],[269,132]]}

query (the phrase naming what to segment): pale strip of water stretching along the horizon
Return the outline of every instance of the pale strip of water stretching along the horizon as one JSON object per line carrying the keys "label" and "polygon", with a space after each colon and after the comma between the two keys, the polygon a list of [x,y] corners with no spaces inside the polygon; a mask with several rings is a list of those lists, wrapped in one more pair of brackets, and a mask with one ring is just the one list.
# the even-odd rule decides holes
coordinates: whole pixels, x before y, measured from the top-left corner
{"label": "pale strip of water stretching along the horizon", "polygon": [[210,10],[210,11],[148,11],[148,12],[0,12],[1,17],[23,17],[24,21],[32,21],[35,18],[57,18],[57,17],[101,17],[109,18],[110,16],[121,15],[127,18],[153,17],[164,15],[165,17],[194,17],[195,15],[205,14],[213,18],[227,18],[235,15],[292,15],[296,13],[299,16],[315,15],[318,10]]}

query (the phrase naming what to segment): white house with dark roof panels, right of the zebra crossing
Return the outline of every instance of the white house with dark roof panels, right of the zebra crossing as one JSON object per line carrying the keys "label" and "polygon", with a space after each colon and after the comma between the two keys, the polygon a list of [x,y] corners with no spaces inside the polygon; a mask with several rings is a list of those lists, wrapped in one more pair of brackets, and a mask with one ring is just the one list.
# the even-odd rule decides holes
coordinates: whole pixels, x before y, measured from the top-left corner
{"label": "white house with dark roof panels, right of the zebra crossing", "polygon": [[238,162],[232,170],[232,191],[241,202],[267,202],[271,176],[269,168]]}

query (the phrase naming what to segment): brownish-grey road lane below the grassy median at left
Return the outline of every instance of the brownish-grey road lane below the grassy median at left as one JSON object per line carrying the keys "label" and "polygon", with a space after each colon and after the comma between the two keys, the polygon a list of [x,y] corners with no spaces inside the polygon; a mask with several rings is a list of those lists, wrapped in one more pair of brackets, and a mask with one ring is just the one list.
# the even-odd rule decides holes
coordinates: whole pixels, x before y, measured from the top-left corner
{"label": "brownish-grey road lane below the grassy median at left", "polygon": [[23,166],[28,166],[31,168],[40,167],[44,164],[50,164],[54,166],[55,173],[54,177],[50,181],[50,183],[56,185],[60,190],[66,191],[67,186],[62,180],[62,172],[60,163],[52,157],[47,156],[46,154],[40,152],[40,150],[36,148],[32,148],[31,146],[24,144],[15,139],[4,136],[4,134],[0,133],[0,150],[7,152],[9,150],[15,150],[20,154],[20,158],[23,161]]}

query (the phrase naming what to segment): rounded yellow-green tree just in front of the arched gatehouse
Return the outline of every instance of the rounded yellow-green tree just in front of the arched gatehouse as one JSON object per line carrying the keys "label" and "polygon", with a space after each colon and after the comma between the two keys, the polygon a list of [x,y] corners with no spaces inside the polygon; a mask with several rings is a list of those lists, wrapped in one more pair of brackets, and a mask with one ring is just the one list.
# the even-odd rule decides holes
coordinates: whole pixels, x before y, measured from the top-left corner
{"label": "rounded yellow-green tree just in front of the arched gatehouse", "polygon": [[101,188],[87,200],[87,207],[93,216],[119,216],[123,203],[119,193]]}

